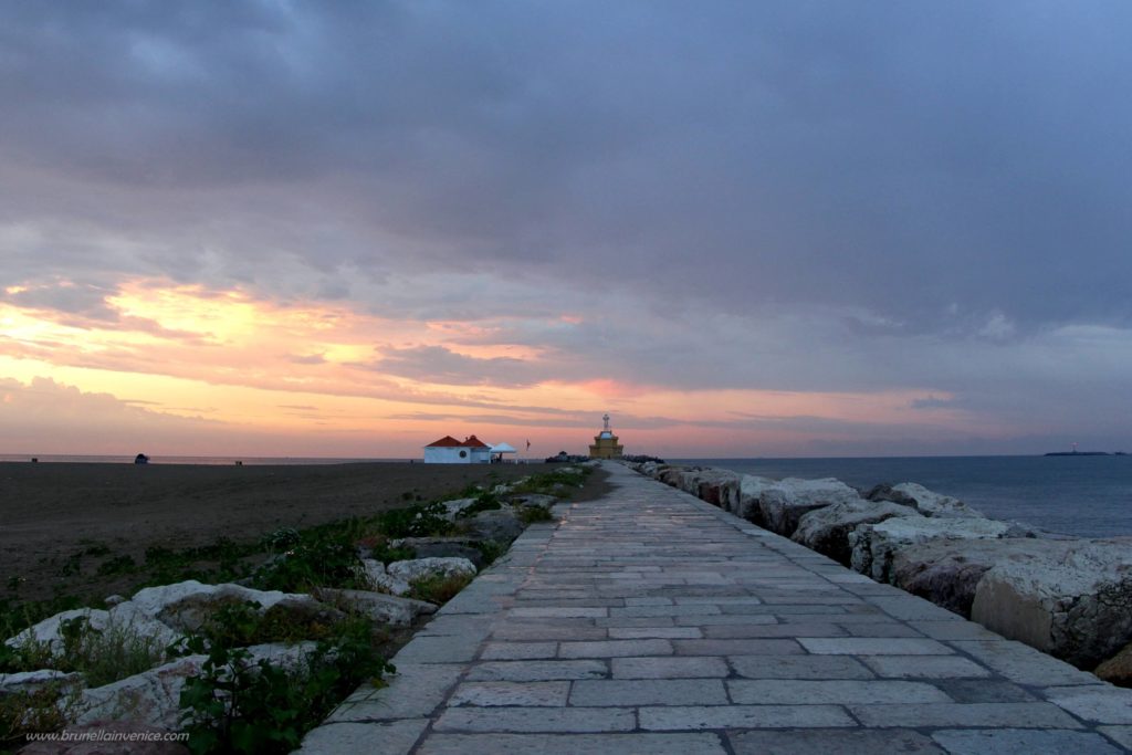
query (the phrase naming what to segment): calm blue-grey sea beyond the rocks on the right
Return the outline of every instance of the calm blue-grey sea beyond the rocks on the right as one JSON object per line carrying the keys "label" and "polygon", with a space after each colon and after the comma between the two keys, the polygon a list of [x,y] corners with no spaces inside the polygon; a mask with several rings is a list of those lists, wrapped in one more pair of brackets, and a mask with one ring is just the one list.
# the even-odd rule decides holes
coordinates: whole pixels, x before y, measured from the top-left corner
{"label": "calm blue-grey sea beyond the rocks on the right", "polygon": [[694,458],[769,478],[832,477],[855,488],[918,482],[987,516],[1084,538],[1132,535],[1132,456]]}

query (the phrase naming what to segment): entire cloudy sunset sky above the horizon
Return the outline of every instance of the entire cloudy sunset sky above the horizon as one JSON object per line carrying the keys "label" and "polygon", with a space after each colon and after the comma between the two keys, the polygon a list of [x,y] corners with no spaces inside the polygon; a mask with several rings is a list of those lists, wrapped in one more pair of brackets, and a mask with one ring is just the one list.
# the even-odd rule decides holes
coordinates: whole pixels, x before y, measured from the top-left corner
{"label": "entire cloudy sunset sky above the horizon", "polygon": [[0,0],[0,454],[1132,451],[1130,26]]}

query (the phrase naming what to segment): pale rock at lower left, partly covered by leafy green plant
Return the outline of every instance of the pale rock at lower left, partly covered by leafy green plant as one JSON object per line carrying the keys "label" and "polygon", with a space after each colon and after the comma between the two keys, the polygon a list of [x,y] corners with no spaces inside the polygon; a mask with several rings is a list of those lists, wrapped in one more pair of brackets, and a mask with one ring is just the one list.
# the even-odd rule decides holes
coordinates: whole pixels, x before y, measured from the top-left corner
{"label": "pale rock at lower left, partly covered by leafy green plant", "polygon": [[[247,650],[252,663],[264,659],[272,666],[295,669],[315,644],[252,645]],[[205,660],[207,655],[186,655],[113,684],[84,689],[68,713],[79,726],[121,719],[125,713],[131,721],[178,731],[181,689],[186,679],[200,674]]]}

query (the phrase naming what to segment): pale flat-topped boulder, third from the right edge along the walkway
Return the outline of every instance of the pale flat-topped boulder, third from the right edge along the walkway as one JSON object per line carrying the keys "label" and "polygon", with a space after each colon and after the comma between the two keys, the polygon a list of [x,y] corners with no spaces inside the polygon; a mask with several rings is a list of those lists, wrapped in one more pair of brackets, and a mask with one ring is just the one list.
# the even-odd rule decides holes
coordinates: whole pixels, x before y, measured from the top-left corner
{"label": "pale flat-topped boulder, third from the right edge along the walkway", "polygon": [[1009,531],[1009,524],[996,520],[898,516],[878,524],[861,524],[849,533],[850,565],[877,582],[889,582],[893,555],[903,548],[935,538],[994,540]]}

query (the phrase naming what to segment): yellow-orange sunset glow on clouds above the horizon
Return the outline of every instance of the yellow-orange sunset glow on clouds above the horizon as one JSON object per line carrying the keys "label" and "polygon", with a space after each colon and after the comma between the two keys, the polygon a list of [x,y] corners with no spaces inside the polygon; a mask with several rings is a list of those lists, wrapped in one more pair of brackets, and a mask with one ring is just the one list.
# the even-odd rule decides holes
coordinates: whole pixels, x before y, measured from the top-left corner
{"label": "yellow-orange sunset glow on clouds above the horizon", "polygon": [[[900,421],[925,397],[678,391],[662,380],[610,377],[599,361],[580,369],[580,358],[561,346],[508,342],[508,333],[524,328],[583,327],[576,315],[540,315],[533,319],[549,324],[521,327],[515,316],[396,319],[164,280],[125,282],[89,311],[24,301],[23,286],[6,293],[0,375],[27,386],[50,377],[76,387],[69,406],[77,405],[75,395],[100,396],[101,411],[112,405],[108,396],[144,406],[129,411],[135,436],[146,420],[172,417],[212,423],[203,427],[216,432],[271,434],[275,453],[294,455],[414,456],[435,436],[460,432],[580,452],[607,409],[637,451],[719,453],[727,444],[804,444],[799,418],[846,427]],[[953,423],[947,398],[934,394],[919,415]],[[18,438],[3,443],[0,452],[26,451]],[[75,443],[70,451],[86,448],[83,439]],[[139,440],[122,443],[129,449]]]}

